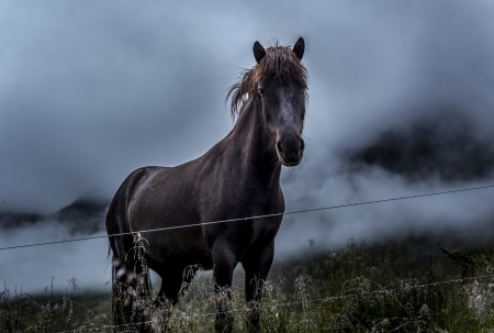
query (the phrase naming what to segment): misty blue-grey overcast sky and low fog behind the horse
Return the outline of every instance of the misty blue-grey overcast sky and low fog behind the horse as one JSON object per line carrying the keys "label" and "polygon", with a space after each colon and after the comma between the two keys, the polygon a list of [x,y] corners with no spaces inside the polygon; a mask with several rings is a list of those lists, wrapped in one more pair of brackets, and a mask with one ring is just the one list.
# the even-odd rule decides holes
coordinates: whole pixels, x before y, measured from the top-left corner
{"label": "misty blue-grey overcast sky and low fog behind the horse", "polygon": [[[233,126],[224,99],[255,64],[252,43],[273,37],[303,36],[310,74],[306,154],[282,175],[288,211],[494,184],[492,18],[490,0],[2,1],[0,211],[110,199],[137,167],[200,156]],[[277,253],[308,238],[459,233],[493,222],[493,201],[487,189],[292,215]],[[5,245],[64,237],[57,227],[0,234]],[[90,247],[104,268],[104,242]],[[0,262],[24,263],[10,280],[34,270],[46,284],[94,282],[76,267],[89,265],[87,248],[66,247],[72,267],[48,247]],[[36,253],[58,263],[46,276],[30,264]]]}

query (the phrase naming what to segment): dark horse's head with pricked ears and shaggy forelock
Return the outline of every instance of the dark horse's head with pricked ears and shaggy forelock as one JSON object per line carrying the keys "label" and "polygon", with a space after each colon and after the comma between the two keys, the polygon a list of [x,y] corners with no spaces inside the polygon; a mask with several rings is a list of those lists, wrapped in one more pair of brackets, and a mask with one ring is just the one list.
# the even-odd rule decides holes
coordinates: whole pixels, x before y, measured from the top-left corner
{"label": "dark horse's head with pricked ears and shaggy forelock", "polygon": [[302,37],[293,48],[276,43],[265,49],[259,42],[254,43],[257,65],[245,70],[228,92],[233,115],[242,112],[246,100],[261,111],[268,148],[285,166],[300,164],[305,147],[302,130],[307,71],[301,63],[304,47]]}

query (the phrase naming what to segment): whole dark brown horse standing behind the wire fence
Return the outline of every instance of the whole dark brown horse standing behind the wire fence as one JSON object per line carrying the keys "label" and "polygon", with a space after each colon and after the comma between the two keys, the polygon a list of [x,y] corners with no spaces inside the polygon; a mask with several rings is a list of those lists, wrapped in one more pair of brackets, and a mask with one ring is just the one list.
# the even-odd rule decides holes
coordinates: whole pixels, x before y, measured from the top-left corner
{"label": "whole dark brown horse standing behind the wire fence", "polygon": [[[121,185],[105,223],[113,253],[115,325],[132,322],[141,332],[150,330],[146,324],[149,313],[136,313],[132,307],[137,293],[150,293],[147,267],[162,280],[157,298],[175,304],[182,285],[193,277],[183,275],[187,267],[213,269],[215,290],[221,292],[232,286],[233,271],[242,263],[245,300],[252,310],[249,325],[259,330],[256,304],[284,212],[281,168],[299,165],[305,147],[304,49],[302,37],[293,47],[274,41],[265,48],[255,42],[256,65],[239,75],[226,96],[236,119],[233,130],[197,159],[176,167],[143,167]],[[270,217],[252,219],[258,215]],[[183,227],[190,224],[195,225]],[[141,233],[166,227],[177,229]],[[139,258],[145,265],[137,263]],[[227,302],[217,302],[216,308],[215,330],[232,332]]]}

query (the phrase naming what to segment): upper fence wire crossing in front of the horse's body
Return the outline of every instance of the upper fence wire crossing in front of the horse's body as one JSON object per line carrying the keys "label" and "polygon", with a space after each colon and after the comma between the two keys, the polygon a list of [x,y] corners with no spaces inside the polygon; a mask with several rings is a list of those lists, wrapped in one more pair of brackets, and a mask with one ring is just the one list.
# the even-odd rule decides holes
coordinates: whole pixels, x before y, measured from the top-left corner
{"label": "upper fence wire crossing in front of the horse's body", "polygon": [[447,191],[439,191],[439,192],[430,192],[430,193],[422,193],[422,195],[414,195],[414,196],[405,196],[405,197],[398,197],[398,198],[388,198],[388,199],[361,201],[361,202],[353,202],[353,203],[346,203],[346,204],[338,204],[338,206],[329,206],[329,207],[321,207],[321,208],[313,208],[313,209],[295,210],[295,211],[283,212],[283,213],[254,215],[254,217],[245,217],[245,218],[237,218],[237,219],[227,219],[227,220],[201,222],[201,223],[193,223],[193,224],[166,226],[166,227],[158,227],[158,229],[141,230],[141,231],[135,231],[135,232],[124,232],[124,233],[117,233],[117,234],[111,234],[111,235],[88,236],[88,237],[63,240],[63,241],[53,241],[53,242],[44,242],[44,243],[32,243],[32,244],[21,244],[21,245],[13,245],[13,246],[4,246],[4,247],[0,247],[0,251],[14,249],[14,248],[24,248],[24,247],[34,247],[34,246],[44,246],[44,245],[61,244],[61,243],[70,243],[70,242],[81,242],[81,241],[99,240],[99,238],[106,238],[106,237],[116,237],[116,236],[124,236],[124,235],[135,235],[137,233],[143,234],[143,233],[150,233],[150,232],[158,232],[158,231],[168,231],[168,230],[177,230],[177,229],[184,229],[184,227],[192,227],[192,226],[202,226],[202,225],[218,224],[218,223],[232,223],[232,222],[237,222],[237,221],[247,221],[247,220],[255,220],[255,219],[274,218],[274,217],[281,217],[281,215],[291,215],[291,214],[300,214],[300,213],[324,211],[324,210],[332,210],[332,209],[340,209],[340,208],[348,208],[348,207],[375,204],[375,203],[390,202],[390,201],[400,201],[400,200],[418,199],[418,198],[441,196],[441,195],[449,195],[449,193],[467,192],[467,191],[474,191],[474,190],[481,190],[481,189],[487,189],[487,188],[494,188],[494,184],[493,185],[486,185],[486,186],[478,186],[478,187],[456,189],[456,190],[447,190]]}

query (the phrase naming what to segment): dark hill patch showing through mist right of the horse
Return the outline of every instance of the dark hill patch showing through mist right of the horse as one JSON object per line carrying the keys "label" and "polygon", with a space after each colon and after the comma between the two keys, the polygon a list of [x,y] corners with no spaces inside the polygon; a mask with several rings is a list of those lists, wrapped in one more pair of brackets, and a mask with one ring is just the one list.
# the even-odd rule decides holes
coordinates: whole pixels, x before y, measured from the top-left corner
{"label": "dark hill patch showing through mist right of the horse", "polygon": [[368,145],[347,152],[351,171],[381,167],[409,181],[490,179],[494,169],[492,137],[479,137],[463,113],[434,111],[434,116],[385,130]]}

